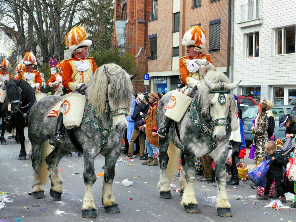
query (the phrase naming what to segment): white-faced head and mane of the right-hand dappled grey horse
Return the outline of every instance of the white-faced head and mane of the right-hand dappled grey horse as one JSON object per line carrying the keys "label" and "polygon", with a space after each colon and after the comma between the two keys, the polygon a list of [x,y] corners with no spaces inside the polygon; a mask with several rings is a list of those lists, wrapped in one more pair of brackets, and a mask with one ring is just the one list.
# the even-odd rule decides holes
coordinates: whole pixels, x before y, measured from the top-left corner
{"label": "white-faced head and mane of the right-hand dappled grey horse", "polygon": [[231,112],[237,112],[233,89],[240,83],[230,83],[224,73],[208,71],[207,77],[198,89],[198,104],[201,116],[213,129],[213,139],[222,141],[226,138]]}

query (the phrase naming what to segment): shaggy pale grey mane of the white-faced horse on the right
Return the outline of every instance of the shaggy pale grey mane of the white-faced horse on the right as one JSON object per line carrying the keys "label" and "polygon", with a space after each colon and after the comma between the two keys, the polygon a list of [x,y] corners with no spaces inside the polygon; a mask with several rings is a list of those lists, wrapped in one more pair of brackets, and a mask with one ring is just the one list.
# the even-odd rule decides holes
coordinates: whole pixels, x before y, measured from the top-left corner
{"label": "shaggy pale grey mane of the white-faced horse on the right", "polygon": [[[229,85],[231,84],[231,82],[224,73],[209,70],[207,72],[206,78],[208,81],[215,84],[214,90],[221,89],[221,83],[219,82],[219,80],[223,82],[224,90],[230,90]],[[198,87],[197,95],[197,107],[200,110],[200,115],[202,116],[202,118],[210,120],[210,101],[215,94],[210,94],[210,89],[206,86],[204,81],[201,81],[200,86]],[[226,97],[226,101],[230,101],[230,110],[236,110],[237,104],[234,100],[233,91],[231,90],[230,94],[224,95]]]}

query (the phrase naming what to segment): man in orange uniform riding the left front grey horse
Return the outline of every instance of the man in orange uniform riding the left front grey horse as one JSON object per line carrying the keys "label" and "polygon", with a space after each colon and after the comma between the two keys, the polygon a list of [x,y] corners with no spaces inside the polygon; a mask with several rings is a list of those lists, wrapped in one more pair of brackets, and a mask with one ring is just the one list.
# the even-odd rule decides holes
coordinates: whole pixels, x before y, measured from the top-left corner
{"label": "man in orange uniform riding the left front grey horse", "polygon": [[[88,85],[97,69],[94,59],[87,57],[88,46],[92,41],[86,39],[88,34],[83,26],[72,28],[65,38],[65,45],[72,52],[72,58],[66,59],[62,65],[63,86],[68,89],[67,94],[79,93],[83,85]],[[65,142],[65,136],[61,133],[64,128],[63,113],[59,113],[56,132],[54,134],[54,146],[58,147]]]}

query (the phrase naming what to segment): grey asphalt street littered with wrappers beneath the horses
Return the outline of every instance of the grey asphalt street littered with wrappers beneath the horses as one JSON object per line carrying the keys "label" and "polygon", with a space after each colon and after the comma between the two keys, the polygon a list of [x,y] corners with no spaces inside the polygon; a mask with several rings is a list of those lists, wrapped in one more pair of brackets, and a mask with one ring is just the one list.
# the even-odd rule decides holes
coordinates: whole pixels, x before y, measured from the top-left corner
{"label": "grey asphalt street littered with wrappers beneath the horses", "polygon": [[[26,135],[26,149],[28,154],[28,136]],[[7,138],[7,133],[5,133]],[[237,186],[226,185],[228,200],[231,204],[233,217],[222,218],[217,216],[214,204],[206,199],[216,195],[216,187],[212,183],[195,181],[194,190],[198,201],[200,214],[186,213],[180,205],[181,196],[171,191],[172,199],[162,199],[157,189],[159,167],[142,165],[139,159],[125,160],[123,153],[119,157],[122,162],[115,166],[113,195],[118,202],[121,212],[106,213],[102,208],[103,177],[97,176],[93,186],[97,218],[82,218],[81,206],[85,192],[83,183],[83,158],[73,153],[73,157],[63,157],[59,163],[60,174],[63,178],[63,194],[61,201],[54,201],[49,195],[49,184],[44,186],[45,199],[34,199],[28,193],[32,192],[33,170],[29,160],[18,160],[20,145],[14,139],[7,139],[8,145],[0,145],[0,191],[9,192],[6,206],[0,209],[0,222],[3,221],[296,221],[295,208],[281,208],[275,210],[263,208],[268,201],[251,198],[257,190],[250,187],[250,181],[241,181]],[[247,149],[249,151],[249,149]],[[252,164],[246,157],[244,164]],[[134,166],[128,166],[133,164]],[[98,156],[95,160],[95,172],[103,172],[104,157]],[[128,178],[133,181],[131,186],[124,187],[121,182]],[[172,181],[178,188],[178,179]],[[239,200],[234,199],[240,197]],[[132,198],[132,199],[131,199]],[[131,199],[131,200],[128,200]],[[255,204],[253,204],[255,203]],[[289,203],[284,203],[288,206]],[[258,207],[258,208],[255,208]],[[287,210],[284,210],[287,209]],[[267,214],[264,214],[267,213]]]}

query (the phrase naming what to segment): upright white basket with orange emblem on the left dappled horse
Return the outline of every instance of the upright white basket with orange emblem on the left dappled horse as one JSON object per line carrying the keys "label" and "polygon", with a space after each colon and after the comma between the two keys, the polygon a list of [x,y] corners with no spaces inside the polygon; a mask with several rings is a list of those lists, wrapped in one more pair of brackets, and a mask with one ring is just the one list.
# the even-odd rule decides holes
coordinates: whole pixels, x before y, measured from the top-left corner
{"label": "upright white basket with orange emblem on the left dappled horse", "polygon": [[63,98],[64,126],[67,129],[80,126],[87,97],[81,94],[67,94]]}

